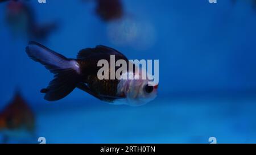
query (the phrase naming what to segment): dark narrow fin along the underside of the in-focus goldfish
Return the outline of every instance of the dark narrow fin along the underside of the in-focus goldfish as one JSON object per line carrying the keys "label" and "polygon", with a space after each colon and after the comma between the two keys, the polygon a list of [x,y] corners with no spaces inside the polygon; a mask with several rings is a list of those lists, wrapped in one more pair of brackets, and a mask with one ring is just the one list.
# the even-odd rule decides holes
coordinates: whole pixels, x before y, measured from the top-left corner
{"label": "dark narrow fin along the underside of the in-focus goldfish", "polygon": [[94,93],[92,90],[90,90],[90,88],[85,84],[85,83],[83,83],[83,82],[80,82],[80,83],[78,83],[77,85],[76,85],[76,87],[78,88],[78,89],[81,89],[81,90],[83,90],[83,91],[85,91],[86,93],[88,93],[88,94],[90,94],[90,95],[93,95],[93,97],[96,97],[96,98],[98,98],[98,99],[100,99],[100,100],[107,100],[107,101],[113,101],[113,100],[115,100],[115,99],[122,99],[122,98],[125,98],[125,97],[123,97],[123,96],[117,96],[117,97],[110,97],[110,96],[108,96],[108,95],[98,95],[98,94],[96,94],[96,93]]}

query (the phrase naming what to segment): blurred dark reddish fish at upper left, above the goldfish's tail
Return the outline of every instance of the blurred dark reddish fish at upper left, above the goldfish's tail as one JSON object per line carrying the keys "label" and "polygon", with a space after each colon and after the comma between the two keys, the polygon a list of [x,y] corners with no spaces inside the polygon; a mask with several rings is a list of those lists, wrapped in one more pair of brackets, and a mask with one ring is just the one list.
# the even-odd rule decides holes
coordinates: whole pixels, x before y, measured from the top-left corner
{"label": "blurred dark reddish fish at upper left, above the goldfish's tail", "polygon": [[14,36],[25,36],[28,40],[44,41],[57,29],[57,22],[39,24],[34,11],[24,1],[10,1],[7,4],[6,23]]}

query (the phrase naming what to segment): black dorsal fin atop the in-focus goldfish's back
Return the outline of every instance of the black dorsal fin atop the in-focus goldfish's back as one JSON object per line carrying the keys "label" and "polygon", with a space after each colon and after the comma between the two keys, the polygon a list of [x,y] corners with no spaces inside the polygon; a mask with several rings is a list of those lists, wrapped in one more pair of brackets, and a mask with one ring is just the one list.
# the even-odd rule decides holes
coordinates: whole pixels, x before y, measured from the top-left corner
{"label": "black dorsal fin atop the in-focus goldfish's back", "polygon": [[86,58],[92,55],[119,55],[126,58],[122,53],[117,50],[106,47],[104,45],[97,45],[95,48],[85,48],[79,51],[77,58]]}

